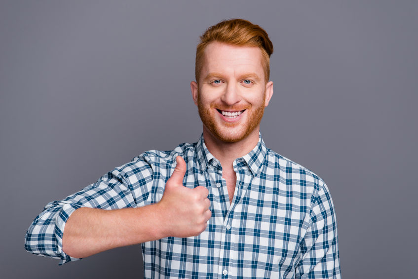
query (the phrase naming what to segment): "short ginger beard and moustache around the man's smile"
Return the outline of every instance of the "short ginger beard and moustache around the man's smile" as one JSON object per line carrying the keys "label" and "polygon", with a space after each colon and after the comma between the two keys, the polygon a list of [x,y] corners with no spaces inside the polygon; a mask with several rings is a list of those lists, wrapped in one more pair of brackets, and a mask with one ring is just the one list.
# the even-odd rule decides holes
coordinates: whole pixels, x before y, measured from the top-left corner
{"label": "short ginger beard and moustache around the man's smile", "polygon": [[[198,97],[197,108],[203,125],[212,133],[212,135],[214,135],[216,138],[223,142],[235,143],[245,139],[254,131],[256,127],[259,126],[264,114],[265,99],[266,94],[264,94],[263,101],[260,103],[260,106],[258,107],[253,107],[249,105],[244,108],[236,109],[234,107],[220,108],[219,106],[215,106],[215,104],[210,104],[210,108],[207,108],[201,103],[200,98]],[[217,113],[215,107],[218,109],[229,109],[233,111],[242,111],[245,109],[245,113],[248,114],[246,116],[246,122],[242,123],[242,121],[244,121],[244,119],[242,119],[232,123],[225,121],[219,123],[219,121],[216,120],[214,115]]]}

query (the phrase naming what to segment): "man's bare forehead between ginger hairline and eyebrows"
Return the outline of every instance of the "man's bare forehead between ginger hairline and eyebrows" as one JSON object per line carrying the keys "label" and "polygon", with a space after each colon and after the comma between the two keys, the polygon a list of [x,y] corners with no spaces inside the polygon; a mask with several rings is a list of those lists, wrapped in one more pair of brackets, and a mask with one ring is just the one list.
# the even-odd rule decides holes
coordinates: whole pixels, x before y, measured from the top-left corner
{"label": "man's bare forehead between ginger hairline and eyebrows", "polygon": [[202,65],[202,77],[217,72],[237,75],[254,72],[264,79],[263,55],[257,46],[236,46],[211,42],[206,46]]}

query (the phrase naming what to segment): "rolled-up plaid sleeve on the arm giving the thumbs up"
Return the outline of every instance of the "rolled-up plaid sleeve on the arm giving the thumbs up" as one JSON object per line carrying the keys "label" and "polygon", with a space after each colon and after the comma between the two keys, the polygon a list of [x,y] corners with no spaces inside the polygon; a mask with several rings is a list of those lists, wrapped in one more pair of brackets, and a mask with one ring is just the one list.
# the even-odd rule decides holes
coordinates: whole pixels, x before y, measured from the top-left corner
{"label": "rolled-up plaid sleeve on the arm giving the thumbs up", "polygon": [[62,236],[70,215],[80,207],[120,209],[144,205],[152,181],[151,165],[128,163],[102,176],[81,191],[49,202],[26,232],[25,249],[33,254],[60,259],[59,265],[78,260],[62,249]]}

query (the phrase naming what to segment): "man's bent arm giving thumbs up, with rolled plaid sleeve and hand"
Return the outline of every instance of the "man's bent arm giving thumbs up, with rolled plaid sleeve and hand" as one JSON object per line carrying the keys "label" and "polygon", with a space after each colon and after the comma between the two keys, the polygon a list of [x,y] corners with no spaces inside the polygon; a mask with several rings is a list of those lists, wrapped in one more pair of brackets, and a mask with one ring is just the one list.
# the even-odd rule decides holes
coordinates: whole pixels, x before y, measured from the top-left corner
{"label": "man's bent arm giving thumbs up, with rolled plaid sleeve and hand", "polygon": [[[136,204],[129,183],[115,173],[107,183],[102,181],[64,201],[50,203],[29,228],[25,247],[36,254],[61,258],[62,264],[114,247],[168,236],[198,235],[211,215],[208,191],[201,186],[183,187],[185,171],[186,163],[177,157],[162,199],[151,205],[123,208]],[[147,169],[142,173],[150,174]],[[138,184],[150,179],[143,175]],[[144,192],[137,196],[148,195]]]}

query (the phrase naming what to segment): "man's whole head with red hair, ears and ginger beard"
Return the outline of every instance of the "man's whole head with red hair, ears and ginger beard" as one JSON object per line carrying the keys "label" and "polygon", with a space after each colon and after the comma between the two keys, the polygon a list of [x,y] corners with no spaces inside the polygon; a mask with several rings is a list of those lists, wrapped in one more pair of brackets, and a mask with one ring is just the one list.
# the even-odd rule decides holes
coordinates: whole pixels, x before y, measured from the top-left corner
{"label": "man's whole head with red hair, ears and ginger beard", "polygon": [[196,81],[190,83],[205,142],[258,141],[264,108],[273,93],[266,32],[242,19],[223,21],[201,37]]}

